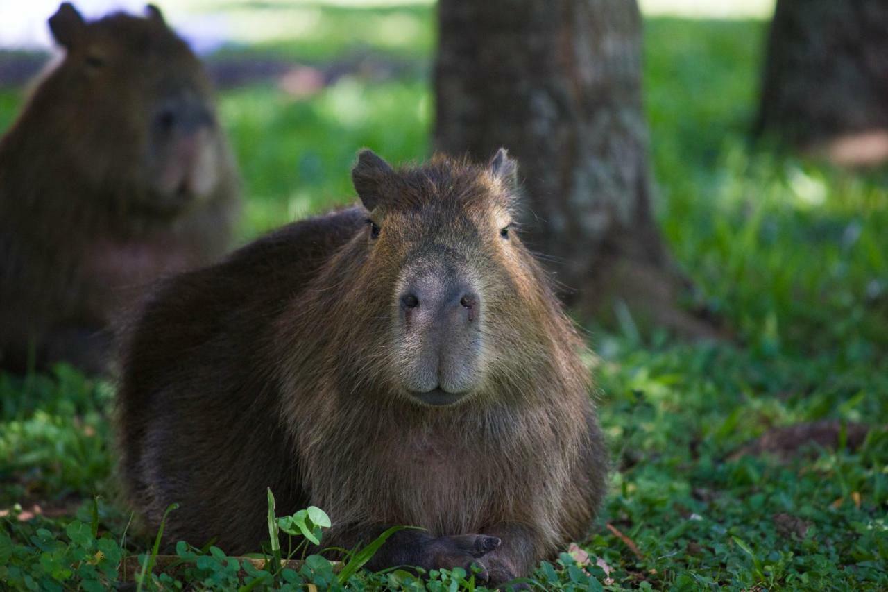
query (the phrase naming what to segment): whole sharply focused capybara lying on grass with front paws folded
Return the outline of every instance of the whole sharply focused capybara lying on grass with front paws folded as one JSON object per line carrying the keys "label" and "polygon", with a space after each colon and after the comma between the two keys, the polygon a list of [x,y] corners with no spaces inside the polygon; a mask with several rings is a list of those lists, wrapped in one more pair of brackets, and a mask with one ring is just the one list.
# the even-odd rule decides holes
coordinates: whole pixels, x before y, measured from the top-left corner
{"label": "whole sharply focused capybara lying on grass with front paws folded", "polygon": [[582,539],[607,454],[583,344],[512,224],[515,164],[393,170],[147,300],[123,363],[122,474],[168,541],[229,553],[316,505],[324,546],[397,532],[373,568],[472,562],[494,583]]}

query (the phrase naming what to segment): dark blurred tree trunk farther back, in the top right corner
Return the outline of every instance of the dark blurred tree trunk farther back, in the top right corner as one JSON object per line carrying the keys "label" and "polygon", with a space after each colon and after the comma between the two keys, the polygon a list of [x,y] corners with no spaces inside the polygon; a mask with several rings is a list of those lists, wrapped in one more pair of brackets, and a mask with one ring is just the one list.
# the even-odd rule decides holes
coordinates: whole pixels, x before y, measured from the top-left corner
{"label": "dark blurred tree trunk farther back, in the top right corner", "polygon": [[888,0],[778,0],[756,132],[840,164],[888,159]]}

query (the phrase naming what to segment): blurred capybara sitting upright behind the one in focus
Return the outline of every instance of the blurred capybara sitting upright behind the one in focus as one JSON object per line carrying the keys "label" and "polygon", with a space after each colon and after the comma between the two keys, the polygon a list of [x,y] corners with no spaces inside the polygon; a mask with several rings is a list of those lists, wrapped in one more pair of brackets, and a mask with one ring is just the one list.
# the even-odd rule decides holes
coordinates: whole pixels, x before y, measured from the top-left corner
{"label": "blurred capybara sitting upright behind the one in focus", "polygon": [[49,20],[64,59],[0,140],[0,366],[107,369],[140,288],[224,254],[234,159],[201,62],[154,6]]}

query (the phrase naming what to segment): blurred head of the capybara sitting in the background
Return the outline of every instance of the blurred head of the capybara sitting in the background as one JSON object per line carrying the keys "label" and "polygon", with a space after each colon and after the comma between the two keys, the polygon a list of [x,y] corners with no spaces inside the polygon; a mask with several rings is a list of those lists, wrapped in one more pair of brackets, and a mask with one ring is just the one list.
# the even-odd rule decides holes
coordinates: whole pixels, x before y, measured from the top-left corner
{"label": "blurred head of the capybara sitting in the background", "polygon": [[87,22],[65,3],[49,25],[66,55],[44,84],[96,186],[148,191],[161,212],[209,196],[225,165],[210,82],[160,10]]}

